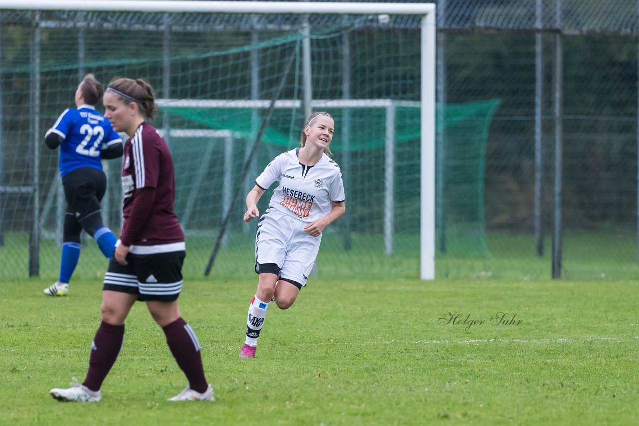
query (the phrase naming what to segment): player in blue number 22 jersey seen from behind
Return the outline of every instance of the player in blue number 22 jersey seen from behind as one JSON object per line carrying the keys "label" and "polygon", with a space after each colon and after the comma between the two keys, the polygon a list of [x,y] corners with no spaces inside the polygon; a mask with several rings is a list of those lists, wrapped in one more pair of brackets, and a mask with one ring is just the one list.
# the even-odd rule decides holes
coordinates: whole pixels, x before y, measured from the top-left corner
{"label": "player in blue number 22 jersey seen from behind", "polygon": [[66,296],[80,258],[82,229],[98,243],[102,254],[113,255],[116,236],[104,226],[100,201],[107,189],[102,158],[122,155],[122,139],[109,120],[95,109],[104,88],[88,74],[75,91],[77,109],[68,108],[45,135],[51,149],[60,147],[60,174],[68,206],[65,213],[62,259],[58,282],[44,290],[49,296]]}

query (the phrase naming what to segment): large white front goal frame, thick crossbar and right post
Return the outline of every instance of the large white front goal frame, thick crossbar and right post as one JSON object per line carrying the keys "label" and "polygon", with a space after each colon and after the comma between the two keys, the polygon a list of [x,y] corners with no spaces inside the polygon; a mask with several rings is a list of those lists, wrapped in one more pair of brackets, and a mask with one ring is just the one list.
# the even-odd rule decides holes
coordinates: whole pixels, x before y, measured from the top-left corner
{"label": "large white front goal frame, thick crossbar and right post", "polygon": [[268,1],[0,0],[3,10],[417,15],[421,21],[420,278],[435,279],[435,4]]}

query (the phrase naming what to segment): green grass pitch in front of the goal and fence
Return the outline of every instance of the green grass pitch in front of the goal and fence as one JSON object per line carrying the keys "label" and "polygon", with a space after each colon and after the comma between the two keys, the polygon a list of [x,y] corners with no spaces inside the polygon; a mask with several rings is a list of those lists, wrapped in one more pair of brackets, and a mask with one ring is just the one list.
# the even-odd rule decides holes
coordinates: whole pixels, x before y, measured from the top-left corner
{"label": "green grass pitch in front of the goal and fence", "polygon": [[49,284],[3,283],[4,424],[628,425],[639,418],[636,281],[312,278],[289,310],[268,310],[257,357],[241,360],[256,277],[189,279],[180,306],[202,347],[211,403],[166,400],[186,381],[142,303],[128,318],[102,401],[52,399],[50,388],[84,379],[102,285],[84,278],[70,297],[47,298]]}

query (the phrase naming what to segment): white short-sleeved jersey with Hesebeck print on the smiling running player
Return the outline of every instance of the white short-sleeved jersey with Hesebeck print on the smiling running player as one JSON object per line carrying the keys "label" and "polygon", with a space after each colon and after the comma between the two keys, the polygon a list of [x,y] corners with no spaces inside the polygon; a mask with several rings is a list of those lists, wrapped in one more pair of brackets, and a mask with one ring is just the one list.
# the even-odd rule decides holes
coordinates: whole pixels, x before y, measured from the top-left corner
{"label": "white short-sleeved jersey with Hesebeck print on the smiling running player", "polygon": [[344,179],[339,165],[326,154],[315,165],[300,164],[299,149],[276,156],[255,183],[266,190],[279,181],[268,206],[304,222],[314,222],[330,213],[332,202],[344,201]]}

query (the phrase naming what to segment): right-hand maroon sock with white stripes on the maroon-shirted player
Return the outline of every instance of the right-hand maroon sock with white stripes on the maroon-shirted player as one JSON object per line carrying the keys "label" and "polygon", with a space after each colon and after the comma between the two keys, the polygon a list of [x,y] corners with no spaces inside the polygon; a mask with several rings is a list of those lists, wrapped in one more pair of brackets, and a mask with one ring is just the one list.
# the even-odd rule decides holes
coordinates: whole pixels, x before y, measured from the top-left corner
{"label": "right-hand maroon sock with white stripes on the maroon-shirted player", "polygon": [[166,342],[173,358],[178,361],[180,369],[189,380],[190,388],[197,392],[204,392],[208,388],[208,383],[204,377],[202,355],[195,331],[181,317],[162,327],[162,330],[166,334]]}

